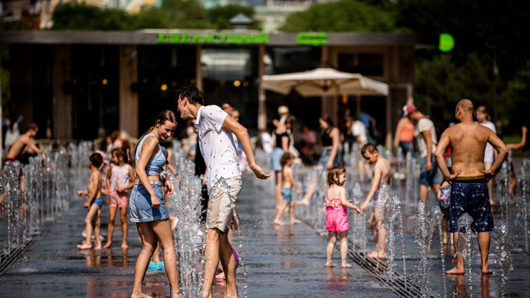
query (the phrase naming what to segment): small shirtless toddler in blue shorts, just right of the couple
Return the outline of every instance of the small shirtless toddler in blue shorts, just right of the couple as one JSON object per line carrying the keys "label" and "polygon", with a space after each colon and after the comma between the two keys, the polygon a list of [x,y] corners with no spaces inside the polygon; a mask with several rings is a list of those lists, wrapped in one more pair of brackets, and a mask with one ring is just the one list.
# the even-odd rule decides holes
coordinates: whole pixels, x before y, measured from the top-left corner
{"label": "small shirtless toddler in blue shorts, just right of the couple", "polygon": [[282,215],[289,206],[289,222],[291,224],[299,224],[300,221],[295,218],[295,201],[293,201],[293,188],[296,189],[297,194],[301,193],[300,188],[293,178],[293,169],[290,167],[295,162],[295,156],[291,153],[284,153],[282,158],[280,158],[279,163],[282,164],[282,196],[284,201],[279,206],[278,212],[276,213],[276,218],[274,219],[275,224],[284,224],[282,221]]}

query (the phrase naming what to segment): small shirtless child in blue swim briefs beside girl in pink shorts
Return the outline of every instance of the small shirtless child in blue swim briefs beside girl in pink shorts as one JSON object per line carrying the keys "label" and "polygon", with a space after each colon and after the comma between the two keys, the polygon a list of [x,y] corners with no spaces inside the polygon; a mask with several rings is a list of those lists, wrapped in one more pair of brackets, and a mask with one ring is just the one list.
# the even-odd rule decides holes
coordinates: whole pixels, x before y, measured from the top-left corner
{"label": "small shirtless child in blue swim briefs beside girl in pink shorts", "polygon": [[77,248],[80,249],[92,248],[92,242],[90,241],[92,231],[94,231],[94,241],[96,242],[94,248],[101,249],[101,240],[99,237],[101,206],[103,206],[103,200],[101,199],[101,173],[99,171],[101,164],[103,164],[103,157],[99,153],[92,153],[88,162],[91,173],[87,191],[77,191],[77,195],[79,196],[87,195],[87,202],[83,206],[89,208],[87,217],[85,217],[86,240],[81,244],[77,244]]}

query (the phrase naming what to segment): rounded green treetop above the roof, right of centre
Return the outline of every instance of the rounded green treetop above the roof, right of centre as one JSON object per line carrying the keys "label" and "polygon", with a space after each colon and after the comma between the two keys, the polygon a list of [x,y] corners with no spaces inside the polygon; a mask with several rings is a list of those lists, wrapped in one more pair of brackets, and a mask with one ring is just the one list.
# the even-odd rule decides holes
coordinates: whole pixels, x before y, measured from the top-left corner
{"label": "rounded green treetop above the roof, right of centre", "polygon": [[360,1],[340,0],[315,4],[306,11],[289,14],[285,25],[280,30],[286,32],[390,32],[395,28],[392,12]]}

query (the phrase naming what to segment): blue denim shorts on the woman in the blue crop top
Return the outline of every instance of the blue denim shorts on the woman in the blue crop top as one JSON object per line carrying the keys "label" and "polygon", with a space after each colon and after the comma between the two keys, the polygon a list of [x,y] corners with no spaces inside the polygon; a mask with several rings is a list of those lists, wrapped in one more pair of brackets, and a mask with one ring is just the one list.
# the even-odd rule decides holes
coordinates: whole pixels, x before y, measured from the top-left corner
{"label": "blue denim shorts on the woman in the blue crop top", "polygon": [[151,195],[142,184],[137,184],[131,191],[131,197],[129,198],[131,222],[153,222],[154,220],[169,219],[166,204],[162,200],[162,187],[156,184],[151,184],[151,187],[153,187],[156,197],[160,200],[160,208],[153,209],[151,207]]}

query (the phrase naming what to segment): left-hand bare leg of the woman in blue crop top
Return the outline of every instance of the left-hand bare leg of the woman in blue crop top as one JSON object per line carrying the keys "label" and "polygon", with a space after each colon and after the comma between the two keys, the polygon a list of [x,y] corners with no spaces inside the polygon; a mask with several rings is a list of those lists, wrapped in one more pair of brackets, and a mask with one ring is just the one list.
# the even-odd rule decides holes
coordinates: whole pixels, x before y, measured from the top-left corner
{"label": "left-hand bare leg of the woman in blue crop top", "polygon": [[131,298],[144,298],[150,297],[142,292],[142,284],[145,277],[145,270],[147,270],[147,265],[155,250],[157,239],[149,222],[138,222],[136,228],[138,229],[140,240],[142,240],[142,250],[138,254],[136,264],[134,264],[134,281]]}

